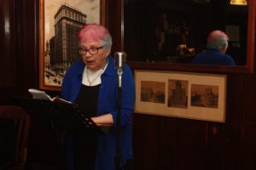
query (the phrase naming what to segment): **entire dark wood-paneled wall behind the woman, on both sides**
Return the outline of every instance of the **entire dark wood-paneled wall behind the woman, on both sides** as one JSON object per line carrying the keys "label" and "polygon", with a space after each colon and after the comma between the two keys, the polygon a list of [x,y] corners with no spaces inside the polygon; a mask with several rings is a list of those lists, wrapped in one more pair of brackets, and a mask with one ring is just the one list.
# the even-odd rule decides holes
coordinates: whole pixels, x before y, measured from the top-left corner
{"label": "entire dark wood-paneled wall behind the woman, on both sides", "polygon": [[[119,0],[108,0],[107,26],[113,51],[123,48]],[[0,1],[0,105],[10,95],[38,88],[38,0]],[[134,169],[256,169],[256,78],[243,67],[197,67],[130,63],[132,69],[166,69],[227,74],[226,122],[205,122],[135,113]],[[60,156],[50,127],[34,122],[29,162],[58,168]],[[40,141],[38,138],[40,136]],[[61,168],[61,167],[60,167]]]}

